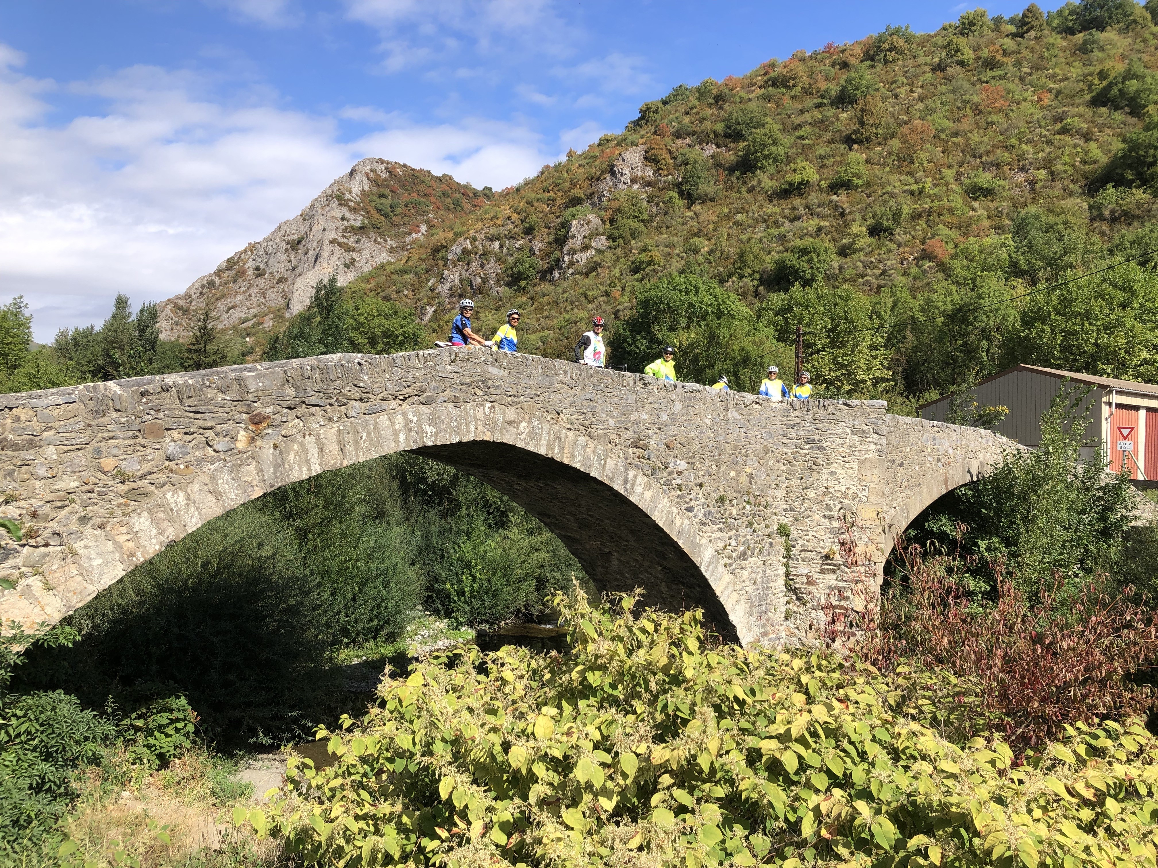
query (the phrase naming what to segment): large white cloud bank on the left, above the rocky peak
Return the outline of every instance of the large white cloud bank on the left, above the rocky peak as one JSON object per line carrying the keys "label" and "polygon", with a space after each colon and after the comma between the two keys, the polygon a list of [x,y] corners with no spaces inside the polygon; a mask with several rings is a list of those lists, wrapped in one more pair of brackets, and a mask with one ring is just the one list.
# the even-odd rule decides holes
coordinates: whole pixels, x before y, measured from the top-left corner
{"label": "large white cloud bank on the left, above the rocky peak", "polygon": [[[555,159],[525,128],[479,119],[405,124],[373,109],[339,117],[384,128],[342,141],[337,120],[192,73],[137,66],[61,88],[19,73],[0,45],[0,301],[23,294],[37,340],[182,292],[296,214],[362,156],[496,189]],[[101,105],[50,124],[61,91]]]}

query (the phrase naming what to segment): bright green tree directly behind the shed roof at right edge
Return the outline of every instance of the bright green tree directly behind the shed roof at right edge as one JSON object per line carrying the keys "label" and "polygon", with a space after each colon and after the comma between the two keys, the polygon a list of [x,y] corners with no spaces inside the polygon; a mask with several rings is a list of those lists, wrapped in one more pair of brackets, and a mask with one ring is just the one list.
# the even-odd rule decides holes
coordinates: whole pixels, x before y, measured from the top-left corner
{"label": "bright green tree directly behind the shed roof at right edge", "polygon": [[1006,365],[1158,382],[1158,274],[1127,263],[1033,295],[1006,346]]}

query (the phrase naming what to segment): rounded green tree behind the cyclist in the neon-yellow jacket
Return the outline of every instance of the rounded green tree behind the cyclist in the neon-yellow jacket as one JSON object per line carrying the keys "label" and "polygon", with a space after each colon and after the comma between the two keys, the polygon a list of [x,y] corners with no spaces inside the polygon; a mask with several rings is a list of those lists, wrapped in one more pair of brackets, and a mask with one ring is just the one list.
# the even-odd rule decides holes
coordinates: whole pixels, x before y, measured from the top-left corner
{"label": "rounded green tree behind the cyclist in the neon-yellow jacket", "polygon": [[681,380],[714,383],[726,374],[746,391],[755,391],[764,367],[786,352],[740,299],[692,274],[669,274],[640,288],[635,311],[616,324],[611,358],[643,370],[668,344],[676,348]]}

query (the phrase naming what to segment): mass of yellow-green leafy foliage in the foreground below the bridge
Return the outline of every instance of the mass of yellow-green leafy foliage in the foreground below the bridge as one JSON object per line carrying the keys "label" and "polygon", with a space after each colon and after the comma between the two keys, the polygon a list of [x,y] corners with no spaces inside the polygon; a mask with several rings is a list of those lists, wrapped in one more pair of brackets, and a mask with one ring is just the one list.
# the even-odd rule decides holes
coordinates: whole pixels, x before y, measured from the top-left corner
{"label": "mass of yellow-green leafy foliage in the foreground below the bridge", "polygon": [[1142,727],[1017,765],[907,714],[896,678],[635,603],[554,601],[569,654],[460,649],[388,681],[320,733],[332,766],[291,759],[288,790],[235,822],[340,866],[1155,865]]}

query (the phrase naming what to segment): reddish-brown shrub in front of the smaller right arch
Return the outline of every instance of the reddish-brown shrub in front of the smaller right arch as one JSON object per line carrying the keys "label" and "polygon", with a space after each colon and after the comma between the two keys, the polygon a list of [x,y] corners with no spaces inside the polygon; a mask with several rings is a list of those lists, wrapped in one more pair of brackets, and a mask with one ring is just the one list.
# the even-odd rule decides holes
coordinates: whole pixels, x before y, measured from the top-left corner
{"label": "reddish-brown shrub in front of the smaller right arch", "polygon": [[968,580],[958,581],[962,559],[925,560],[919,546],[897,545],[900,581],[858,653],[884,671],[953,672],[960,684],[941,694],[940,706],[954,741],[1001,731],[1025,750],[1064,737],[1075,723],[1146,711],[1151,691],[1131,676],[1158,656],[1158,615],[1131,589],[1120,594],[1105,578],[1077,589],[1055,581],[1029,602],[1014,578],[990,565],[996,601],[979,606]]}

